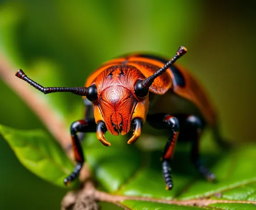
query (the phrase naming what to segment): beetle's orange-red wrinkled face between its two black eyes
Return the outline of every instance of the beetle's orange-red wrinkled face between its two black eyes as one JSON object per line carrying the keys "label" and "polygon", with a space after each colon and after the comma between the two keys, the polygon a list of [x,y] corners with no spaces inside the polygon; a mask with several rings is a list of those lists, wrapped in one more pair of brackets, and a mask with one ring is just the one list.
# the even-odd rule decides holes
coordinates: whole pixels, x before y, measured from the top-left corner
{"label": "beetle's orange-red wrinkled face between its two black eyes", "polygon": [[[92,82],[97,86],[98,93],[98,100],[93,103],[96,123],[104,121],[113,135],[128,133],[135,107],[145,101],[135,95],[135,83],[144,78],[137,68],[129,65],[112,66],[101,72]],[[148,106],[148,102],[145,105]],[[146,120],[147,110],[144,112],[143,121]]]}

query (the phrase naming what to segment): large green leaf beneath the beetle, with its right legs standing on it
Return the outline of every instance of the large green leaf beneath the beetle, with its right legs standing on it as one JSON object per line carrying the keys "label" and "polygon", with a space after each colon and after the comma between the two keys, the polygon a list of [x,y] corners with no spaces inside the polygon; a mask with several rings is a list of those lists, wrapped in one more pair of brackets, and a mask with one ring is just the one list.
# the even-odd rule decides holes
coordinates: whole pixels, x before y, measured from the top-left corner
{"label": "large green leaf beneath the beetle, with its right legs standing on it", "polygon": [[[210,137],[204,137],[201,142],[201,158],[216,175],[217,180],[213,183],[207,182],[194,169],[189,160],[190,145],[178,144],[171,164],[174,188],[167,191],[161,169],[161,149],[143,151],[127,145],[127,140],[122,137],[111,136],[107,138],[112,143],[111,147],[105,147],[90,138],[93,137],[85,138],[88,142],[84,144],[84,148],[87,149],[85,154],[88,164],[94,172],[100,189],[111,194],[163,201],[209,197],[219,199],[220,202],[221,200],[256,201],[256,166],[253,161],[256,158],[255,143],[222,151]],[[147,139],[141,138],[139,141],[147,141]],[[165,142],[161,137],[156,141]],[[155,143],[151,142],[151,144]],[[130,202],[132,202],[131,206],[135,206],[131,209],[140,209],[139,206],[143,206],[141,201]]]}

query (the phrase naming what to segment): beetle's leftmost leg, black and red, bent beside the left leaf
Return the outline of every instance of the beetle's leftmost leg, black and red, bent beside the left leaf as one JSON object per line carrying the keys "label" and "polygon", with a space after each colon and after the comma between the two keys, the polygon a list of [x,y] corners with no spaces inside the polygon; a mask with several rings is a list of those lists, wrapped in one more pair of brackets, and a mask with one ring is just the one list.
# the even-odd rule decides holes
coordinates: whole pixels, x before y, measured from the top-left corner
{"label": "beetle's leftmost leg, black and red, bent beside the left leaf", "polygon": [[70,184],[70,182],[72,182],[79,176],[80,170],[84,163],[84,153],[83,153],[80,141],[77,137],[77,132],[84,132],[84,133],[96,132],[96,123],[94,119],[75,121],[71,124],[70,130],[71,130],[72,148],[75,154],[77,164],[73,172],[67,178],[64,179],[65,185]]}

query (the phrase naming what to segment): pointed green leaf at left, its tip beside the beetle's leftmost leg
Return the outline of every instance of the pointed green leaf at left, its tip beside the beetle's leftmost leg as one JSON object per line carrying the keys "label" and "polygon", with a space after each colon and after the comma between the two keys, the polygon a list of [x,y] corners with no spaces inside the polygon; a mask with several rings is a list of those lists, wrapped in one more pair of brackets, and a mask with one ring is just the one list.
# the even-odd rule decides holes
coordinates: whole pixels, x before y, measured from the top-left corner
{"label": "pointed green leaf at left, its tip beside the beetle's leftmost leg", "polygon": [[0,125],[0,133],[28,170],[64,187],[63,179],[72,172],[74,166],[56,141],[41,130],[25,131]]}

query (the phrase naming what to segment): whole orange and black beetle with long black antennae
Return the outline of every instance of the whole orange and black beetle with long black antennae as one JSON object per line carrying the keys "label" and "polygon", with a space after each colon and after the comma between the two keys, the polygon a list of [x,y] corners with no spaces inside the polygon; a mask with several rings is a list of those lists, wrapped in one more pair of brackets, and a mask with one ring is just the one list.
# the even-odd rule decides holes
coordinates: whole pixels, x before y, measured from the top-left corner
{"label": "whole orange and black beetle with long black antennae", "polygon": [[[93,107],[93,118],[88,114],[71,124],[71,141],[76,166],[64,179],[66,185],[75,180],[84,163],[84,153],[78,132],[96,132],[105,146],[106,131],[113,135],[133,135],[128,144],[138,140],[147,121],[155,129],[166,129],[169,137],[164,148],[162,171],[166,189],[173,187],[171,168],[176,141],[192,142],[191,161],[197,170],[213,181],[215,176],[199,161],[199,141],[206,125],[214,130],[219,145],[225,141],[218,132],[215,109],[199,82],[181,65],[175,63],[187,52],[181,46],[170,61],[146,54],[130,54],[105,62],[87,79],[82,87],[43,87],[19,69],[16,76],[41,92],[71,92],[82,96],[87,110]],[[174,64],[175,63],[175,64]],[[89,103],[88,103],[89,102]],[[132,128],[131,128],[132,127]]]}

